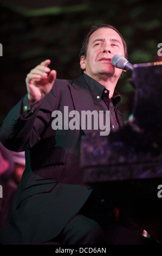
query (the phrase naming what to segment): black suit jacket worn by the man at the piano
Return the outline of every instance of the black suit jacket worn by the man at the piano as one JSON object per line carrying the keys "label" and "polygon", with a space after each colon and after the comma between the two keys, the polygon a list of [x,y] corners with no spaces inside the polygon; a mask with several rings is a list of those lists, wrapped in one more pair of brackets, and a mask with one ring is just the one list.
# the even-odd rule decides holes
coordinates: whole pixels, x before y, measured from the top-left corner
{"label": "black suit jacket worn by the man at the piano", "polygon": [[[79,212],[92,189],[82,182],[79,145],[90,130],[53,130],[51,113],[94,110],[83,76],[58,80],[34,111],[22,115],[22,102],[11,109],[0,130],[5,147],[26,151],[26,167],[18,185],[10,217],[0,232],[2,243],[48,241]],[[64,118],[64,116],[63,116]],[[119,126],[124,125],[116,110]]]}

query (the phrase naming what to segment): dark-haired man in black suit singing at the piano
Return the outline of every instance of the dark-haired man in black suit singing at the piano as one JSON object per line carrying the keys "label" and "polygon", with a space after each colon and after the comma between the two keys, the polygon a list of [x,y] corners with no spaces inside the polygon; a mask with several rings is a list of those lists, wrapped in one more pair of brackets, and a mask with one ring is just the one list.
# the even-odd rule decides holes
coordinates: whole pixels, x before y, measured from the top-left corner
{"label": "dark-haired man in black suit singing at the piano", "polygon": [[82,76],[72,81],[56,79],[56,71],[48,68],[49,59],[27,75],[28,94],[11,109],[0,130],[5,147],[26,151],[26,168],[9,220],[1,229],[1,243],[55,240],[106,245],[116,234],[113,207],[82,182],[79,145],[81,136],[92,130],[67,129],[67,124],[56,130],[53,125],[55,110],[66,119],[65,106],[68,113],[110,109],[111,131],[124,124],[117,109],[120,95],[114,91],[122,70],[111,64],[114,54],[127,58],[124,39],[113,26],[99,25],[82,45]]}

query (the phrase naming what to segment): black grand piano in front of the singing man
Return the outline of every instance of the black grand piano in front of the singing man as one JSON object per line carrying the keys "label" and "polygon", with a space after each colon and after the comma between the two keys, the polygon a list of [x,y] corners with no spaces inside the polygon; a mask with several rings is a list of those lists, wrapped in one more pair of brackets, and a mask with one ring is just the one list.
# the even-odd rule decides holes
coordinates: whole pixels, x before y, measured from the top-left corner
{"label": "black grand piano in front of the singing man", "polygon": [[108,136],[85,136],[80,163],[86,184],[162,242],[162,62],[133,68],[132,117]]}

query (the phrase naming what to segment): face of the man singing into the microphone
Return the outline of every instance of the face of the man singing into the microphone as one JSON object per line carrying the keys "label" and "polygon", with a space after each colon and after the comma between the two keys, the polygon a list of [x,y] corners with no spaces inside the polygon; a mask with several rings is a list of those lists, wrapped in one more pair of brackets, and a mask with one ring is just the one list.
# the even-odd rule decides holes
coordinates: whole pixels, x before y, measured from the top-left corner
{"label": "face of the man singing into the microphone", "polygon": [[124,56],[120,35],[111,28],[99,28],[90,35],[87,57],[81,57],[81,68],[92,78],[119,78],[122,70],[111,64],[115,54]]}

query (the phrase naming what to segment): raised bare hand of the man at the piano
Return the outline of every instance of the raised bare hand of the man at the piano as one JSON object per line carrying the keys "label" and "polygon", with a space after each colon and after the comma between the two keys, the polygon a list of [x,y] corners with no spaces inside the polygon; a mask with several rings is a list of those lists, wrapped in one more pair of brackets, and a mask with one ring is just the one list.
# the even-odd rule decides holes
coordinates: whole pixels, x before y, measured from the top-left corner
{"label": "raised bare hand of the man at the piano", "polygon": [[32,69],[25,79],[28,99],[31,105],[43,99],[53,87],[56,71],[50,70],[48,68],[49,64],[50,59],[44,60],[44,62]]}

